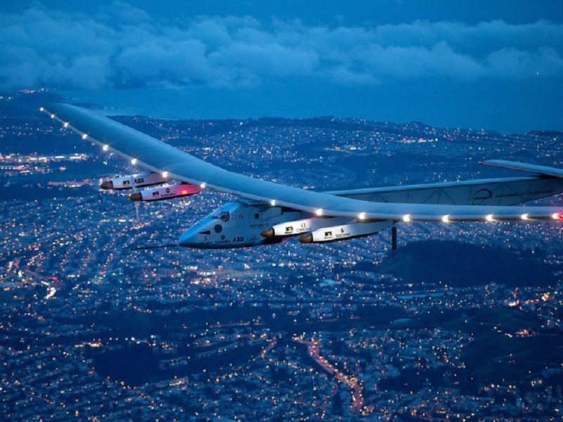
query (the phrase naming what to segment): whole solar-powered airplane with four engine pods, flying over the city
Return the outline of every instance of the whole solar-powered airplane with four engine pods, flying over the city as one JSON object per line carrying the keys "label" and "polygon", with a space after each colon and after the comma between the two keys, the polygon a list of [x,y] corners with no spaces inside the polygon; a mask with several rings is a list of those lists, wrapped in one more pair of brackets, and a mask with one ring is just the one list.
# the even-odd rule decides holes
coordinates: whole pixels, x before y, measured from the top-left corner
{"label": "whole solar-powered airplane with four engine pods, flying over the city", "polygon": [[[242,199],[227,203],[180,236],[186,248],[240,248],[279,243],[328,243],[369,236],[400,222],[563,221],[563,207],[513,206],[563,192],[563,170],[489,160],[483,165],[525,172],[502,179],[315,192],[229,172],[84,108],[41,108],[82,136],[148,172],[104,181],[134,201],[167,200],[205,189]],[[156,187],[149,187],[156,186]]]}

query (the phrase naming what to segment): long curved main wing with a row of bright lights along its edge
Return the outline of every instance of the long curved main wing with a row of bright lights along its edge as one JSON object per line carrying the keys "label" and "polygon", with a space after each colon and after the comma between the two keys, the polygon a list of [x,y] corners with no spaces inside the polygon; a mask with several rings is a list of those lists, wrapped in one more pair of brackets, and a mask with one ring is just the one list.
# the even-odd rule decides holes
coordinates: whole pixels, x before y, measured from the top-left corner
{"label": "long curved main wing with a row of bright lights along its edge", "polygon": [[427,222],[563,219],[563,207],[371,203],[308,191],[229,172],[84,108],[55,103],[42,108],[42,111],[59,120],[64,127],[81,134],[83,139],[97,143],[105,151],[112,151],[153,172],[167,172],[180,181],[205,184],[217,191],[319,216]]}

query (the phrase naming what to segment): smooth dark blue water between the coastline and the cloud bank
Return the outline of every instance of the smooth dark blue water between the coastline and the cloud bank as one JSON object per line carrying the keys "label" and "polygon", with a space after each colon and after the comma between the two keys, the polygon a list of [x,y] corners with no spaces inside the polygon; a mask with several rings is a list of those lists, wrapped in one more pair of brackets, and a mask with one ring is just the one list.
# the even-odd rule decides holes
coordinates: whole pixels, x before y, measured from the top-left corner
{"label": "smooth dark blue water between the coastline and the cloud bank", "polygon": [[[505,134],[563,130],[557,92],[543,101],[534,93],[545,84],[519,87],[504,82],[435,84],[405,82],[343,86],[255,84],[249,87],[139,88],[62,91],[72,103],[88,103],[106,115],[162,119],[247,119],[258,117],[358,117],[390,122],[423,122],[434,127],[487,129]],[[548,101],[545,101],[548,98]]]}

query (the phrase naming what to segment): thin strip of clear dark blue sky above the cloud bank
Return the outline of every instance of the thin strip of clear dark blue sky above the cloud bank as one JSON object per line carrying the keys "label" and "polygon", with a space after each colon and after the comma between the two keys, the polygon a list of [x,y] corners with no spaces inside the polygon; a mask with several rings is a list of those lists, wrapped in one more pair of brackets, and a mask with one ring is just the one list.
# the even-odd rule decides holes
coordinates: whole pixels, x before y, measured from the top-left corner
{"label": "thin strip of clear dark blue sky above the cloud bank", "polygon": [[[127,3],[127,1],[125,1]],[[70,13],[99,13],[115,1],[18,0],[3,2],[0,10],[20,13],[34,5]],[[563,6],[557,0],[268,0],[268,1],[129,1],[156,19],[191,20],[201,15],[254,16],[259,20],[276,17],[302,20],[307,25],[370,26],[408,23],[413,20],[479,23],[504,20],[507,23],[533,23],[540,19],[561,22]]]}

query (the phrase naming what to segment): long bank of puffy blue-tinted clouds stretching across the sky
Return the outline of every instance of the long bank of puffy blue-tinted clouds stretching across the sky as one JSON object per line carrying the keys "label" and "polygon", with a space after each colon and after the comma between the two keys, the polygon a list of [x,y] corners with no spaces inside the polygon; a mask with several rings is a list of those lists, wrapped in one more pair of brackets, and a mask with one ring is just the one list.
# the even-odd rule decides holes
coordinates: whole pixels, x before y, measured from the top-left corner
{"label": "long bank of puffy blue-tinted clouds stretching across the sky", "polygon": [[546,20],[322,27],[208,16],[172,24],[116,1],[97,15],[40,4],[0,14],[0,39],[4,89],[563,77],[563,25]]}

